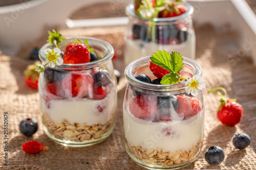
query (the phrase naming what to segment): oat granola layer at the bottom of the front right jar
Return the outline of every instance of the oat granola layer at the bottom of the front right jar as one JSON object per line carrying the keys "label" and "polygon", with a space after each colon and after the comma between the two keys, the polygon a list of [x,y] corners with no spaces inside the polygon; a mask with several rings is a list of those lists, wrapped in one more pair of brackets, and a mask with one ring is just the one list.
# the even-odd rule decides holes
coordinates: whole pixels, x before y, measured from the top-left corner
{"label": "oat granola layer at the bottom of the front right jar", "polygon": [[193,160],[200,152],[202,140],[199,140],[197,145],[193,145],[189,150],[178,150],[176,152],[162,152],[161,150],[144,149],[141,146],[133,146],[127,143],[131,153],[145,164],[161,165],[163,167],[177,165],[189,160]]}

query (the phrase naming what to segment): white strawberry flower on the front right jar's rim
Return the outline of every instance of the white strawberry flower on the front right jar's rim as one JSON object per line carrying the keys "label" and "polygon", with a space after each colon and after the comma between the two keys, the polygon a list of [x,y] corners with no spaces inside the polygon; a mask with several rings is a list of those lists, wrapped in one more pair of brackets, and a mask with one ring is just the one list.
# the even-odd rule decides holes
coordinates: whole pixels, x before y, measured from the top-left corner
{"label": "white strawberry flower on the front right jar's rim", "polygon": [[188,79],[185,85],[187,94],[191,93],[194,96],[198,95],[199,90],[202,90],[205,87],[204,78],[200,75],[195,75],[193,78]]}

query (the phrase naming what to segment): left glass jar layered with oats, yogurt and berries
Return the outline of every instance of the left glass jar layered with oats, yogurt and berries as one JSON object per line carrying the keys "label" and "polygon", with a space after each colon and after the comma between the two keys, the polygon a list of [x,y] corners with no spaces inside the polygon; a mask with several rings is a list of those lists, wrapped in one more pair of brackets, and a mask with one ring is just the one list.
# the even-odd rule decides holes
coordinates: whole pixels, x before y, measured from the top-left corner
{"label": "left glass jar layered with oats, yogurt and berries", "polygon": [[[69,147],[84,147],[108,137],[115,126],[117,109],[116,77],[113,47],[91,37],[67,38],[60,43],[65,51],[69,42],[84,41],[103,57],[83,64],[45,67],[38,82],[40,111],[45,133],[55,142]],[[47,43],[40,48],[39,58],[45,64]],[[100,78],[99,78],[100,77]]]}

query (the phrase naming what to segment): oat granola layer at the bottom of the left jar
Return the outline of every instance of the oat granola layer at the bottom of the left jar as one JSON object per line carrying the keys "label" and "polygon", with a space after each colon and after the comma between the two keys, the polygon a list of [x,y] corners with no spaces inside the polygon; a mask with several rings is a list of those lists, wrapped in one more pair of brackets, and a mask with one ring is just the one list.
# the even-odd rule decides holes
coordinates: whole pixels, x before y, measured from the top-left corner
{"label": "oat granola layer at the bottom of the left jar", "polygon": [[42,115],[44,125],[48,131],[56,138],[82,142],[84,140],[92,140],[100,138],[104,133],[108,132],[114,122],[115,114],[112,114],[111,119],[102,124],[93,124],[91,126],[87,123],[71,124],[67,119],[61,123],[54,123],[48,113]]}

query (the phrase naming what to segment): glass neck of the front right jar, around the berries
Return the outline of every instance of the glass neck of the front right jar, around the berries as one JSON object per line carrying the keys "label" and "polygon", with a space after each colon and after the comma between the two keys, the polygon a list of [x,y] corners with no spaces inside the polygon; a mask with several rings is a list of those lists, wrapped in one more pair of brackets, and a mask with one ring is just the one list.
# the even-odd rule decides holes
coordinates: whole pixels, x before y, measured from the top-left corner
{"label": "glass neck of the front right jar, around the berries", "polygon": [[[135,77],[140,74],[138,69],[141,67],[148,67],[149,69],[150,62],[150,56],[143,57],[131,62],[124,70],[124,76],[126,77],[128,82],[137,87],[154,91],[176,91],[185,88],[185,82],[170,85],[156,85],[144,83],[135,79]],[[202,76],[202,68],[197,62],[189,58],[183,57],[183,63],[184,65],[183,69],[181,70],[181,75],[185,74],[186,78],[191,78],[194,75]]]}

